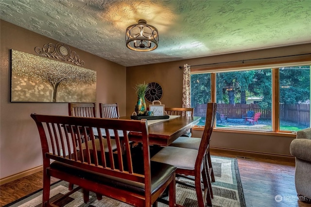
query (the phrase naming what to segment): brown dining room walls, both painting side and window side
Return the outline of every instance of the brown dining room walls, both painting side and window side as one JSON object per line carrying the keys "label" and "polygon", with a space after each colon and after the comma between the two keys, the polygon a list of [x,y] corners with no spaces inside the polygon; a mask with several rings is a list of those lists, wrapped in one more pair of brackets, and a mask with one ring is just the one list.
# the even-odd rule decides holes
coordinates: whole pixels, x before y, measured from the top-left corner
{"label": "brown dining room walls, both painting side and window side", "polygon": [[[57,43],[41,34],[0,20],[0,179],[36,168],[42,165],[41,146],[32,112],[67,115],[66,103],[12,103],[10,102],[9,49],[36,54],[35,47]],[[119,103],[120,115],[130,115],[137,101],[134,86],[145,81],[158,82],[164,92],[160,100],[166,107],[182,107],[183,64],[213,64],[246,60],[259,57],[274,57],[310,53],[311,44],[271,48],[259,51],[240,52],[205,58],[172,61],[124,67],[92,55],[78,48],[70,47],[85,61],[85,68],[97,71],[96,102]],[[297,56],[297,61],[299,56]],[[149,105],[150,103],[147,103]],[[99,113],[99,111],[97,111]],[[201,136],[202,131],[195,131]],[[258,151],[288,155],[292,137],[253,134],[232,135],[230,132],[213,132],[212,145],[240,150]],[[271,139],[272,138],[272,139]],[[264,144],[262,144],[264,143]]]}

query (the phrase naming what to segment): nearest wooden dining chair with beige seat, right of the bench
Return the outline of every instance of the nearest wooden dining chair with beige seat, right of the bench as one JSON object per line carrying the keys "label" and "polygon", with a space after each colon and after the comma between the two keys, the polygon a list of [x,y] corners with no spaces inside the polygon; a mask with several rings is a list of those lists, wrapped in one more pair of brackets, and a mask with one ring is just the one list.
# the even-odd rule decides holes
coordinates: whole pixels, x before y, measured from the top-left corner
{"label": "nearest wooden dining chair with beige seat, right of the bench", "polygon": [[[171,164],[177,167],[177,175],[191,175],[194,177],[194,188],[197,195],[198,207],[212,206],[213,197],[210,166],[207,161],[209,153],[209,141],[216,116],[216,103],[207,103],[206,124],[199,144],[199,149],[190,149],[174,146],[166,146],[161,149],[151,160]],[[188,138],[192,139],[192,138]],[[185,176],[186,178],[188,178]],[[201,179],[203,180],[204,196],[202,195]]]}

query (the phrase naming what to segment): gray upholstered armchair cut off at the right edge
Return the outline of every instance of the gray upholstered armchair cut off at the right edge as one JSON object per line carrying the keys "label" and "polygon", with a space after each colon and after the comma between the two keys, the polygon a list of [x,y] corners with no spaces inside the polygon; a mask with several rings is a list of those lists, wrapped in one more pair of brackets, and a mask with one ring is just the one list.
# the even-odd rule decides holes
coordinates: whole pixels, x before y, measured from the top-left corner
{"label": "gray upholstered armchair cut off at the right edge", "polygon": [[311,128],[297,131],[290,146],[296,159],[295,186],[301,201],[311,202]]}

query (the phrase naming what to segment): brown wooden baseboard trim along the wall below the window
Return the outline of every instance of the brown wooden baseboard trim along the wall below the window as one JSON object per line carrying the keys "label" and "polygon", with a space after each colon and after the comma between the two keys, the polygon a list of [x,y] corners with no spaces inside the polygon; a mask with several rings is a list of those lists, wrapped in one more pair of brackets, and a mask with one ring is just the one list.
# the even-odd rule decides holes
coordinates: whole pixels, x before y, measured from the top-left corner
{"label": "brown wooden baseboard trim along the wall below the window", "polygon": [[290,161],[295,163],[295,157],[290,155],[279,155],[279,154],[270,154],[270,153],[262,153],[262,152],[252,152],[246,150],[237,150],[237,149],[229,149],[222,147],[212,147],[210,146],[210,151],[212,152],[226,152],[232,155],[243,156],[246,158],[262,158],[262,159],[273,159],[279,161]]}

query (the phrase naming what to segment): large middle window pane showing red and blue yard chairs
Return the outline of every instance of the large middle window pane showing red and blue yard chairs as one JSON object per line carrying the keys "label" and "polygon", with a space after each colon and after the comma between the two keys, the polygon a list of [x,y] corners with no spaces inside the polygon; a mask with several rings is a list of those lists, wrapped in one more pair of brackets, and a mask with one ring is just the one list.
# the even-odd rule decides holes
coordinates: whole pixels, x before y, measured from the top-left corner
{"label": "large middle window pane showing red and blue yard chairs", "polygon": [[271,69],[216,74],[216,127],[271,131]]}

